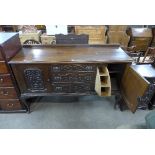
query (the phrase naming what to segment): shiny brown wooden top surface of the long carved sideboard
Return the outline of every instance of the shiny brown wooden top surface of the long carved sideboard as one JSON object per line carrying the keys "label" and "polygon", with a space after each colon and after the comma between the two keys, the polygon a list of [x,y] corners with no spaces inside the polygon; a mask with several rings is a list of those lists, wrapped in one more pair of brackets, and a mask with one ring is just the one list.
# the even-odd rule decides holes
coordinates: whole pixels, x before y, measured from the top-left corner
{"label": "shiny brown wooden top surface of the long carved sideboard", "polygon": [[32,46],[23,47],[11,59],[16,63],[131,63],[119,46]]}

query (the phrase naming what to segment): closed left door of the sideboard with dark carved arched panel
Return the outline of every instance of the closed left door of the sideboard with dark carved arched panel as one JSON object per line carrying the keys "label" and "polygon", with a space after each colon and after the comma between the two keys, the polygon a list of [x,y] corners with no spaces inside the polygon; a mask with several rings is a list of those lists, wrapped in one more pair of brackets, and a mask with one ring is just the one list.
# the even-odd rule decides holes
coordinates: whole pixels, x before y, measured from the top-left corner
{"label": "closed left door of the sideboard with dark carved arched panel", "polygon": [[47,93],[49,84],[49,66],[44,64],[12,65],[12,69],[21,93]]}

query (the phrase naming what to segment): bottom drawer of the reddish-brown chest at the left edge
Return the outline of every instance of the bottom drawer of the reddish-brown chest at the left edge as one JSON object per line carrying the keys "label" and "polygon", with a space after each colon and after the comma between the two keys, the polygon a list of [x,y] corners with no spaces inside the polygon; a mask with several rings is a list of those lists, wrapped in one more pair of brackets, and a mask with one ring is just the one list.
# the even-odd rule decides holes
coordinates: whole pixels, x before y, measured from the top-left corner
{"label": "bottom drawer of the reddish-brown chest at the left edge", "polygon": [[15,100],[0,100],[1,110],[20,110],[22,106],[18,99]]}

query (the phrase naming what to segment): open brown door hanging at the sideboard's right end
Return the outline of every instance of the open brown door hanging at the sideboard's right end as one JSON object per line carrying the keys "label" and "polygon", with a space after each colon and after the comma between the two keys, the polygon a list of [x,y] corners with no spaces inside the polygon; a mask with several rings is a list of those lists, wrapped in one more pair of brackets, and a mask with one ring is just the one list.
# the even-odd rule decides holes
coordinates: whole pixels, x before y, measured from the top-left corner
{"label": "open brown door hanging at the sideboard's right end", "polygon": [[132,66],[127,66],[121,81],[121,94],[128,108],[134,113],[139,100],[146,96],[150,83],[140,76]]}

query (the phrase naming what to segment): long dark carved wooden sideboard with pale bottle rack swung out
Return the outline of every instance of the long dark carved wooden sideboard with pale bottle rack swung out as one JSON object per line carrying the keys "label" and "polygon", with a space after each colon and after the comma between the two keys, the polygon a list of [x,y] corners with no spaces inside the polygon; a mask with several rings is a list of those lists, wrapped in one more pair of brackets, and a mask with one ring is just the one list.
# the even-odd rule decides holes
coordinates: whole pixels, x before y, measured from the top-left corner
{"label": "long dark carved wooden sideboard with pale bottle rack swung out", "polygon": [[[29,45],[9,62],[21,99],[53,95],[113,94],[110,77],[120,85],[132,59],[117,45]],[[97,81],[96,79],[99,79]]]}

